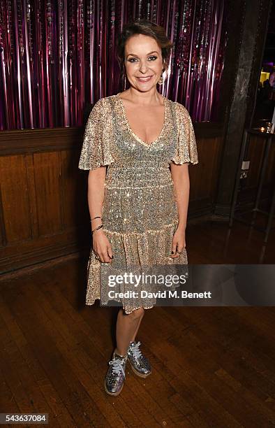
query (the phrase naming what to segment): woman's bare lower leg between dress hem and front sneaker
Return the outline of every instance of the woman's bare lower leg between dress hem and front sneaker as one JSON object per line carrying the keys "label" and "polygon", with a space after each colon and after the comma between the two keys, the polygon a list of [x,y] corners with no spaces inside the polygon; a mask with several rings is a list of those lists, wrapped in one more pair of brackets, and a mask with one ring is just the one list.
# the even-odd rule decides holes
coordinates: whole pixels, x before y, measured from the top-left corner
{"label": "woman's bare lower leg between dress hem and front sneaker", "polygon": [[123,309],[119,310],[117,315],[117,348],[115,349],[119,355],[126,355],[128,345],[137,333],[143,315],[144,308],[136,309],[128,315],[124,314]]}

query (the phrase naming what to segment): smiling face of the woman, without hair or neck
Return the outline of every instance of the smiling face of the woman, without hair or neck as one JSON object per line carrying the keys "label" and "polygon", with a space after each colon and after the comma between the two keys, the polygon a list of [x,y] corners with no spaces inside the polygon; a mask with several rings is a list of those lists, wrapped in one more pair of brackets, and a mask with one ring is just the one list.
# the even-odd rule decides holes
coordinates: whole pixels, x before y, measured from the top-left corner
{"label": "smiling face of the woman, without hair or neck", "polygon": [[147,92],[161,78],[164,68],[161,48],[154,38],[136,34],[126,42],[124,64],[130,85]]}

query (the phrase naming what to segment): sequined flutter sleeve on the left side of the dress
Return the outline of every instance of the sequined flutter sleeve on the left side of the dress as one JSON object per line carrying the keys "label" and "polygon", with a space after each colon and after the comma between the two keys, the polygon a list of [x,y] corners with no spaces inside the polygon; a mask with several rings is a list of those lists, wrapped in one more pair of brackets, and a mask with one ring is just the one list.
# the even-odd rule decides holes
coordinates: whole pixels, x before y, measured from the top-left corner
{"label": "sequined flutter sleeve on the left side of the dress", "polygon": [[104,98],[94,104],[84,131],[79,169],[96,169],[114,162],[110,148],[111,115]]}

